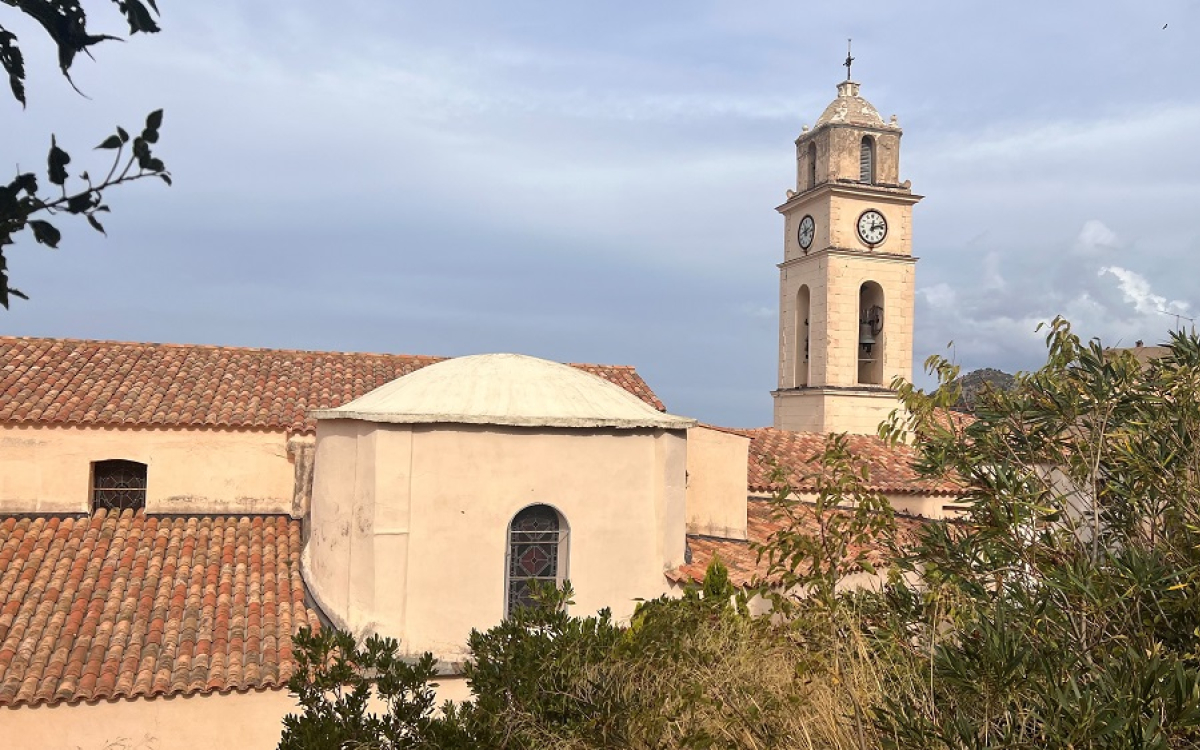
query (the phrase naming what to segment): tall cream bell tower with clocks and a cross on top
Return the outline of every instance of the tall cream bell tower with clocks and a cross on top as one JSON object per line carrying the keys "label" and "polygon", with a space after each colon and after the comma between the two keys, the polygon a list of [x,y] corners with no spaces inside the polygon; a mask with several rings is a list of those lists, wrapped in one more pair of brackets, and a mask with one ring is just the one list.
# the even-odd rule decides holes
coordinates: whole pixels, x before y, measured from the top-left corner
{"label": "tall cream bell tower with clocks and a cross on top", "polygon": [[779,388],[774,424],[800,432],[874,433],[912,378],[912,206],[900,181],[900,126],[838,84],[796,139],[796,190],[779,264]]}

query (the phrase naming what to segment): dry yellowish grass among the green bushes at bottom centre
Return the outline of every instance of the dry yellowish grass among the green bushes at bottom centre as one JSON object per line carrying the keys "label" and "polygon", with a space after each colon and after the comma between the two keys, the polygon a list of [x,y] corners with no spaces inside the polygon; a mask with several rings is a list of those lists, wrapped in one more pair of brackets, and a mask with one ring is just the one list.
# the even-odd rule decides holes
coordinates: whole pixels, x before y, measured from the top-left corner
{"label": "dry yellowish grass among the green bushes at bottom centre", "polygon": [[857,635],[817,647],[796,630],[732,617],[677,646],[652,659],[605,662],[574,686],[583,704],[612,706],[616,694],[628,707],[618,737],[564,736],[533,716],[514,720],[538,746],[564,750],[880,746],[869,707],[898,689],[895,672]]}

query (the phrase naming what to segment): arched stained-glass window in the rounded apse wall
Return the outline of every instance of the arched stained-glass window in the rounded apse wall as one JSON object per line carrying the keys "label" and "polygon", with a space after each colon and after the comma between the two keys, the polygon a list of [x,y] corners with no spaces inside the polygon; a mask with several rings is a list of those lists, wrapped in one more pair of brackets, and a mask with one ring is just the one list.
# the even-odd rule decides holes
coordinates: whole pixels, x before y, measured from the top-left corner
{"label": "arched stained-glass window in the rounded apse wall", "polygon": [[550,505],[530,505],[509,523],[505,616],[533,604],[534,582],[566,578],[566,523]]}

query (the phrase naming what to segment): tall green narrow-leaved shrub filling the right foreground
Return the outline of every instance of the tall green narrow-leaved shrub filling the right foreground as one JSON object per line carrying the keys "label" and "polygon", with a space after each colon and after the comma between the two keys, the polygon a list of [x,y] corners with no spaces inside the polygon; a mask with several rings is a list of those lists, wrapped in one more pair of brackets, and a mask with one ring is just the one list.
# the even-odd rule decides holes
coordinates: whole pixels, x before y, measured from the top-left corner
{"label": "tall green narrow-leaved shrub filling the right foreground", "polygon": [[1144,365],[1056,319],[1046,344],[973,420],[944,418],[944,359],[942,394],[896,384],[883,434],[919,436],[966,511],[882,598],[875,647],[919,685],[881,696],[887,748],[1200,746],[1200,338]]}

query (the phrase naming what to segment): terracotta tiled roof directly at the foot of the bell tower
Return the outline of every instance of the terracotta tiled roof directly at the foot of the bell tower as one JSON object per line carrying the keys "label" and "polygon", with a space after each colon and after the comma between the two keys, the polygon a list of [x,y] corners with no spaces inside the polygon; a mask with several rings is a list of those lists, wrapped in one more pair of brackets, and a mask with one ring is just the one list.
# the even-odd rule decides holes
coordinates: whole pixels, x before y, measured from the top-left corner
{"label": "terracotta tiled roof directly at the foot of the bell tower", "polygon": [[[770,481],[772,461],[788,469],[792,486],[798,491],[812,490],[804,479],[811,472],[814,456],[824,450],[826,436],[816,432],[788,432],[773,427],[758,430],[726,430],[750,438],[750,491],[774,492]],[[869,487],[886,494],[954,496],[961,487],[953,481],[923,479],[912,468],[916,451],[908,445],[889,445],[870,434],[846,436],[851,452],[870,469]]]}

